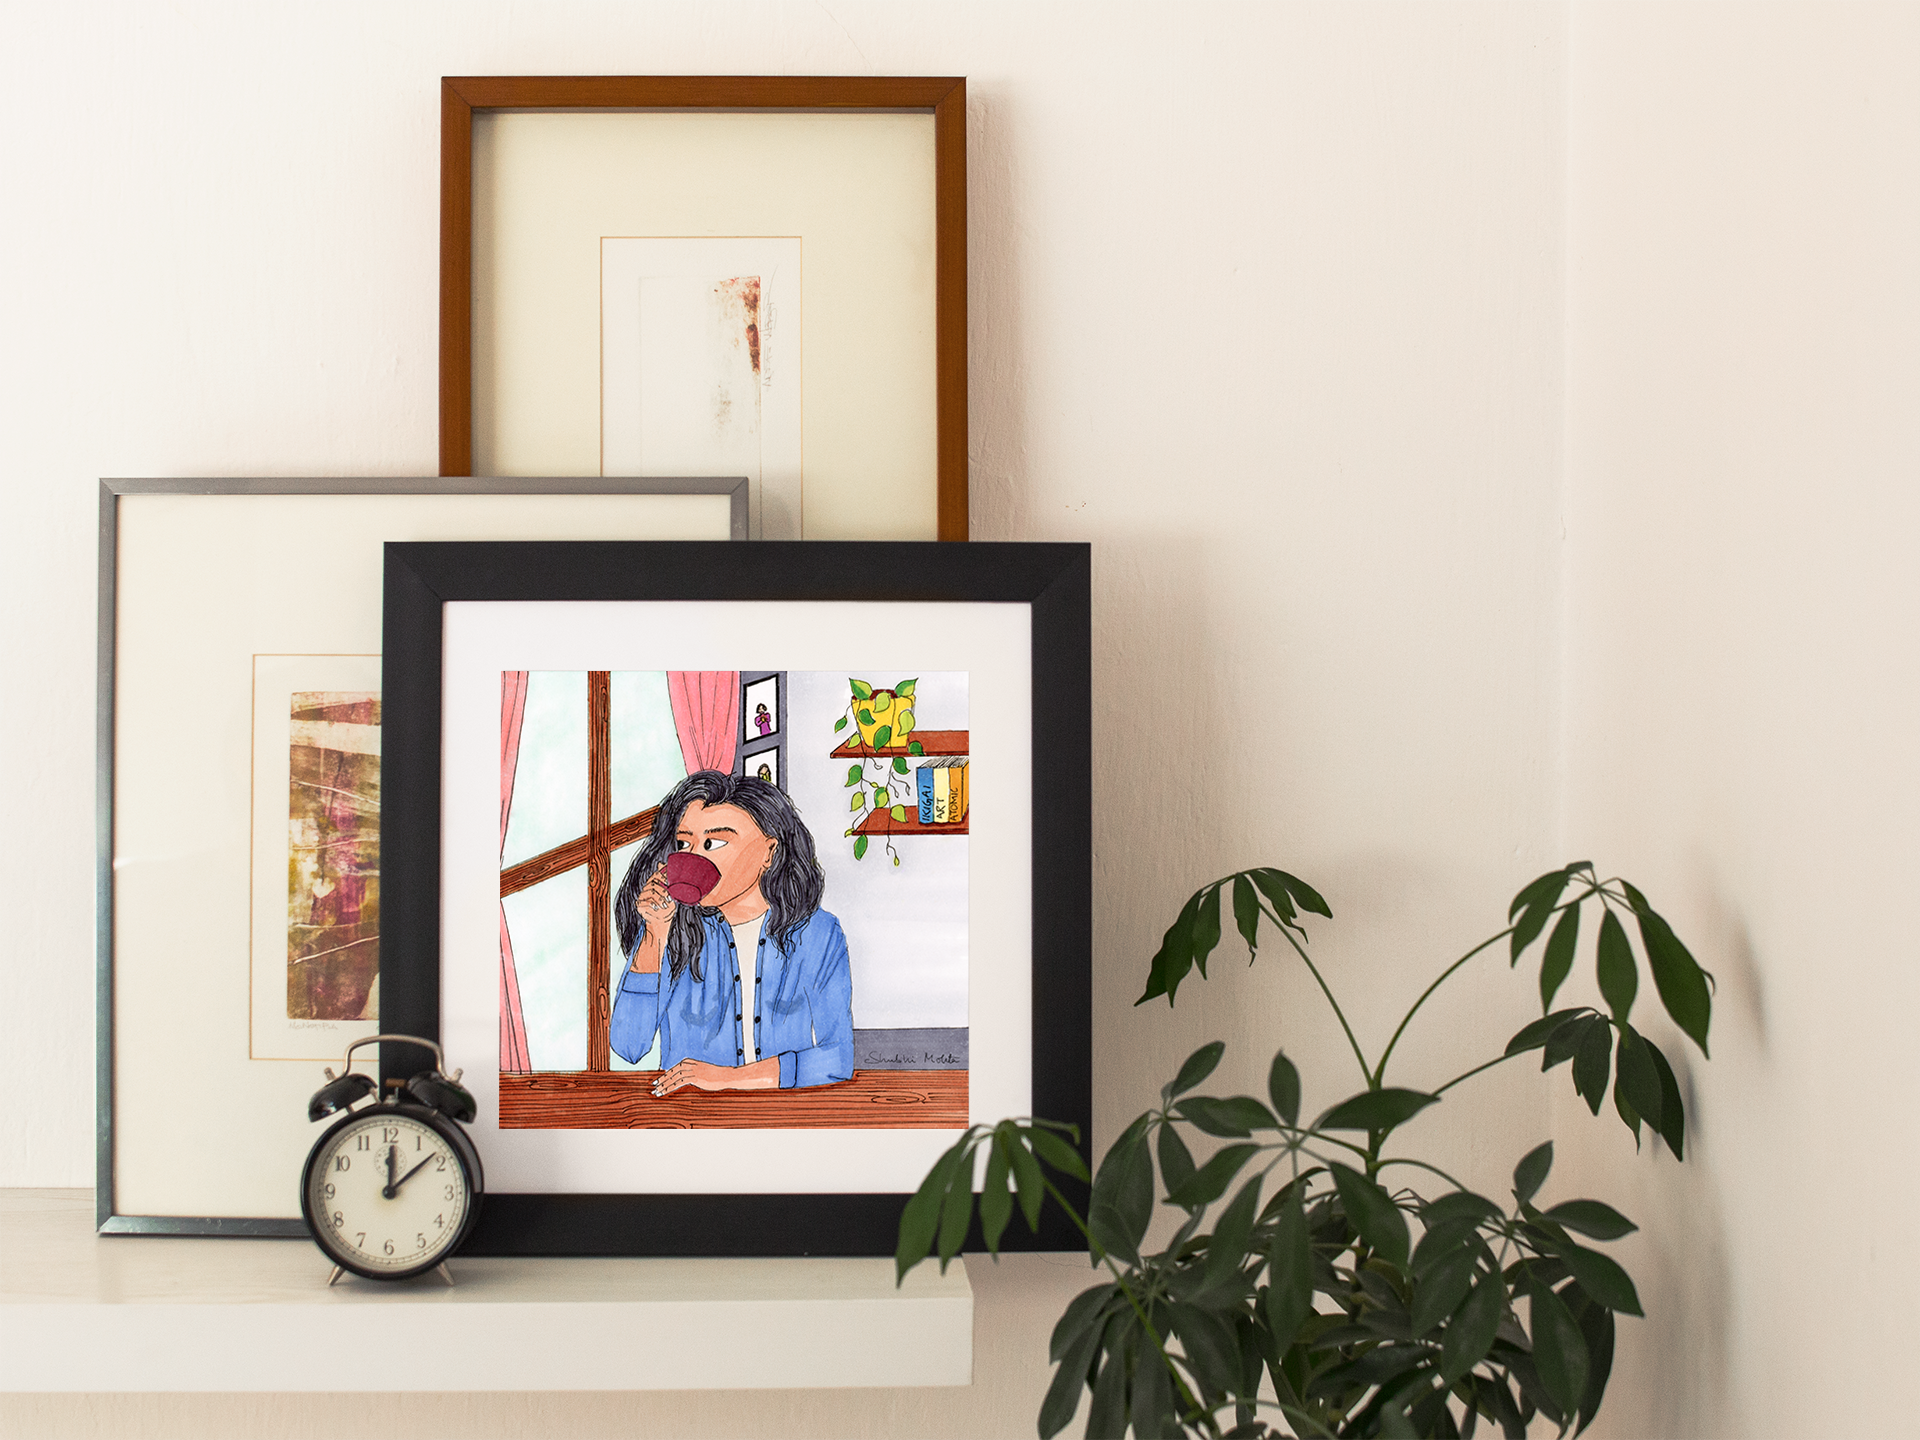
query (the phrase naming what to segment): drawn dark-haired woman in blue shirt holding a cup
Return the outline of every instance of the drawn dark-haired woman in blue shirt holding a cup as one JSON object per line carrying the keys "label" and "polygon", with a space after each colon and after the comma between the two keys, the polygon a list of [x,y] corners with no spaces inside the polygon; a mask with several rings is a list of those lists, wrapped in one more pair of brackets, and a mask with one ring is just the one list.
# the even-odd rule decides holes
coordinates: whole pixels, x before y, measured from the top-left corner
{"label": "drawn dark-haired woman in blue shirt holding a cup", "polygon": [[[676,851],[720,870],[697,904],[666,893]],[[655,1094],[851,1079],[852,972],[824,891],[814,837],[778,785],[718,770],[680,781],[614,895],[628,960],[614,1054],[637,1062],[659,1035]]]}

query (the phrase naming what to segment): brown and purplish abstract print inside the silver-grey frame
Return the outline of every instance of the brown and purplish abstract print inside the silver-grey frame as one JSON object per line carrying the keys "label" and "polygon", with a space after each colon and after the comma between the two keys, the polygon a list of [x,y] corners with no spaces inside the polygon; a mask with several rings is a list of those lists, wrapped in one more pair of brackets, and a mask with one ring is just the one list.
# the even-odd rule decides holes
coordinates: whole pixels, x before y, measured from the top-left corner
{"label": "brown and purplish abstract print inside the silver-grey frame", "polygon": [[380,697],[296,691],[286,856],[288,1020],[378,1020]]}

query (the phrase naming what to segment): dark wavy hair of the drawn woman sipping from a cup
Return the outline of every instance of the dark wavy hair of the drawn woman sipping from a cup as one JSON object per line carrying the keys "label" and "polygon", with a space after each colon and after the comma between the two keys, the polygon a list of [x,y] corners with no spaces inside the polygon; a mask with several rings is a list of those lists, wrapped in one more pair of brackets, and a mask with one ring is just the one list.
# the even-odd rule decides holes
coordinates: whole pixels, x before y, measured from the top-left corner
{"label": "dark wavy hair of the drawn woman sipping from a cup", "polygon": [[[774,945],[783,954],[791,952],[793,931],[820,908],[820,897],[828,887],[826,876],[820,872],[820,860],[814,854],[812,831],[806,829],[801,812],[793,808],[793,801],[787,799],[787,793],[780,785],[770,785],[753,776],[722,776],[718,770],[695,770],[660,801],[660,812],[653,818],[653,833],[639,847],[639,854],[626,868],[620,889],[612,897],[614,924],[620,925],[620,954],[632,956],[641,933],[645,933],[645,922],[639,918],[637,904],[639,891],[655,868],[666,864],[666,856],[674,852],[674,833],[680,829],[680,818],[693,801],[737,804],[753,816],[753,824],[764,835],[778,841],[774,858],[766,874],[760,876],[760,895],[768,902],[766,925],[774,937]],[[666,935],[666,960],[672,979],[680,979],[680,973],[689,966],[693,979],[703,979],[701,950],[707,945],[705,918],[710,914],[720,912],[699,904],[674,906],[674,924]]]}

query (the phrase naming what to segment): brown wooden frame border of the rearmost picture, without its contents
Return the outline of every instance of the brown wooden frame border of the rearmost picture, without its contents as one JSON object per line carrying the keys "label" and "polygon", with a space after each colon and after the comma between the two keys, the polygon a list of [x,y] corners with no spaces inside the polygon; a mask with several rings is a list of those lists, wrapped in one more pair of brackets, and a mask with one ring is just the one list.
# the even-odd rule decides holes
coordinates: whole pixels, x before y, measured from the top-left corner
{"label": "brown wooden frame border of the rearmost picture, without its contents", "polygon": [[[887,115],[933,121],[935,530],[968,538],[966,81],[924,77],[445,77],[440,86],[440,470],[474,465],[474,127],[528,111]],[[484,200],[484,198],[478,198]],[[722,234],[701,227],[697,234]],[[808,442],[812,444],[812,442]],[[543,461],[551,467],[551,461]],[[680,467],[682,470],[689,467]],[[758,520],[758,515],[756,515]],[[758,530],[755,530],[758,538]],[[804,536],[795,536],[804,538]],[[829,536],[831,538],[831,536]]]}

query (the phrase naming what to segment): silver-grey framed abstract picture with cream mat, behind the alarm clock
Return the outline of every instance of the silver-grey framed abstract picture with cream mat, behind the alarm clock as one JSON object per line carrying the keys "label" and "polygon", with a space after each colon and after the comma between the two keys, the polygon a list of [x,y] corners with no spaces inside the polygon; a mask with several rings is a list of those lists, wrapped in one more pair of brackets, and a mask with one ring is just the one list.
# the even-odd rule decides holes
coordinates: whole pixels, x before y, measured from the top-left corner
{"label": "silver-grey framed abstract picture with cream mat, behind the alarm clock", "polygon": [[305,1233],[305,1100],[382,1025],[382,543],[745,524],[743,478],[102,482],[104,1233]]}

